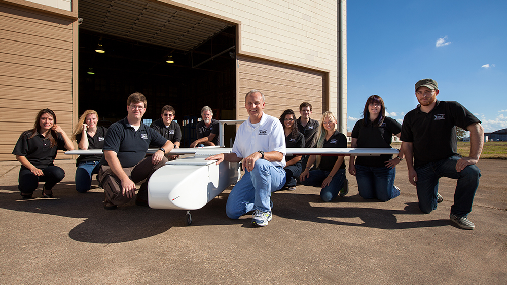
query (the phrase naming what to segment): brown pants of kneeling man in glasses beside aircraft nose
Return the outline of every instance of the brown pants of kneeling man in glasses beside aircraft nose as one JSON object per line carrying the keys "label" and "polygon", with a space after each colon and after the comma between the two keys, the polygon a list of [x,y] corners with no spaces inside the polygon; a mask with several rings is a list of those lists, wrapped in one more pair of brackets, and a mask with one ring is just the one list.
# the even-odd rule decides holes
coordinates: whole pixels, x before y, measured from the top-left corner
{"label": "brown pants of kneeling man in glasses beside aircraft nose", "polygon": [[[123,171],[134,183],[139,183],[146,179],[141,184],[139,192],[137,192],[136,199],[141,201],[148,201],[148,180],[150,176],[159,168],[165,165],[167,158],[164,156],[162,161],[157,165],[152,164],[152,157],[146,157],[139,161],[139,163],[133,167],[125,167]],[[126,195],[122,194],[122,182],[118,176],[116,176],[109,166],[101,166],[98,172],[98,181],[102,188],[104,188],[105,198],[107,201],[114,205],[120,206],[128,203],[130,199]]]}

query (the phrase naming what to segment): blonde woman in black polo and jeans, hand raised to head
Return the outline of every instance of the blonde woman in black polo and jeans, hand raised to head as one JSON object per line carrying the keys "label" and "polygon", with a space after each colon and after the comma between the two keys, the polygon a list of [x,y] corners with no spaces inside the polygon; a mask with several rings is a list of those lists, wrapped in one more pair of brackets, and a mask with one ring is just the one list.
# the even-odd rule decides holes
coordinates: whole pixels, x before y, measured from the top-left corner
{"label": "blonde woman in black polo and jeans, hand raised to head", "polygon": [[[102,149],[107,128],[97,126],[98,114],[86,110],[74,126],[72,138],[79,149]],[[103,154],[80,155],[76,159],[76,191],[85,193],[90,190],[92,175],[97,174]]]}

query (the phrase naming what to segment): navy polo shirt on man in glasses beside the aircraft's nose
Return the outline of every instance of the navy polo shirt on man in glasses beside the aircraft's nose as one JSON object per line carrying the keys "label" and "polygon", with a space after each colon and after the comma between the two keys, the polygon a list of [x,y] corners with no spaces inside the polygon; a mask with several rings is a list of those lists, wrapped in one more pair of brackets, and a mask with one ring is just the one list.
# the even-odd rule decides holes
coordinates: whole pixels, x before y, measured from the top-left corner
{"label": "navy polo shirt on man in glasses beside the aircraft's nose", "polygon": [[[102,150],[116,152],[122,167],[133,167],[144,158],[149,145],[162,147],[166,142],[166,138],[142,124],[142,121],[136,132],[125,117],[109,127]],[[101,164],[108,165],[104,157]]]}

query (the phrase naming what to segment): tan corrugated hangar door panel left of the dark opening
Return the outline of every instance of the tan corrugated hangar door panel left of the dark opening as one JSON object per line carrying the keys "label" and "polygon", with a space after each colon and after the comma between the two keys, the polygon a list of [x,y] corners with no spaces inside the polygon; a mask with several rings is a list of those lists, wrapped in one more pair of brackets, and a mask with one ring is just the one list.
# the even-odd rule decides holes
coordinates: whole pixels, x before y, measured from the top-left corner
{"label": "tan corrugated hangar door panel left of the dark opening", "polygon": [[52,109],[71,134],[72,23],[0,4],[0,160],[15,160],[11,152],[19,135],[33,127],[41,109]]}

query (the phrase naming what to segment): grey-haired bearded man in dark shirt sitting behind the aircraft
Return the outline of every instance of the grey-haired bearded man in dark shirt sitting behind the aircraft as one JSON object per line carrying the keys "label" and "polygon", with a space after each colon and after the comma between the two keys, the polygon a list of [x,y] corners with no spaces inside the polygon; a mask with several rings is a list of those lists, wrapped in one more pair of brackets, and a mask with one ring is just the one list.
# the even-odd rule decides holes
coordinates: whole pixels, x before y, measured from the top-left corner
{"label": "grey-haired bearded man in dark shirt sitting behind the aircraft", "polygon": [[197,123],[197,140],[190,147],[219,145],[219,121],[213,119],[213,111],[208,106],[201,110],[202,121]]}

